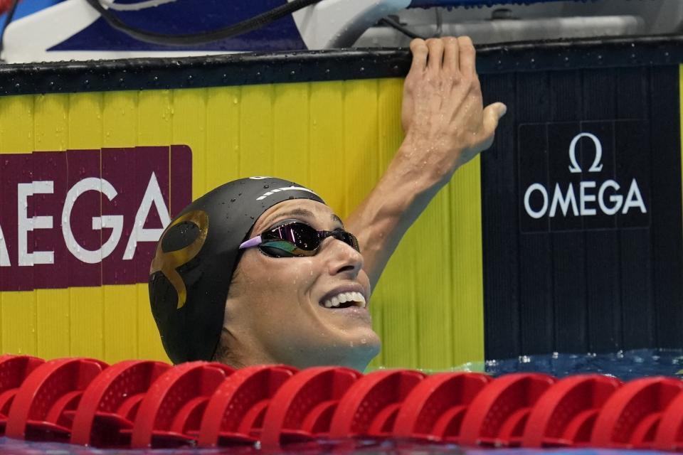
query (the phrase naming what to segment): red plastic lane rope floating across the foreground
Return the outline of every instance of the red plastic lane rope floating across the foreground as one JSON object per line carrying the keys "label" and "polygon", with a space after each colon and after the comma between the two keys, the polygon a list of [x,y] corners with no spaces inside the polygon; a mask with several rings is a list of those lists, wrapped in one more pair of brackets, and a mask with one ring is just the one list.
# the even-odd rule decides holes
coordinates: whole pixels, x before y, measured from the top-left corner
{"label": "red plastic lane rope floating across the foreground", "polygon": [[683,381],[0,355],[0,436],[103,449],[370,438],[683,451]]}

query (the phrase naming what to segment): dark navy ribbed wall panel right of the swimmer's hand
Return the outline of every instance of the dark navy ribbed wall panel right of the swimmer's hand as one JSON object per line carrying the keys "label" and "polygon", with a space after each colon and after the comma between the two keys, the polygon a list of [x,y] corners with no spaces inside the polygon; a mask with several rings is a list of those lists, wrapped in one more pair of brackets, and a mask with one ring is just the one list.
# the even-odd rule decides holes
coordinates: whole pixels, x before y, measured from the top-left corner
{"label": "dark navy ribbed wall panel right of the swimmer's hand", "polygon": [[[509,108],[482,156],[486,357],[683,347],[678,66],[489,74],[482,83],[488,100]],[[543,144],[533,130],[548,123]],[[578,181],[598,175],[586,173],[593,150],[579,161],[583,174],[568,172],[578,128],[613,134],[602,173],[618,176],[624,196],[636,177],[647,215],[529,222],[519,178],[547,173],[550,204],[555,182],[566,192],[576,181],[578,196]]]}

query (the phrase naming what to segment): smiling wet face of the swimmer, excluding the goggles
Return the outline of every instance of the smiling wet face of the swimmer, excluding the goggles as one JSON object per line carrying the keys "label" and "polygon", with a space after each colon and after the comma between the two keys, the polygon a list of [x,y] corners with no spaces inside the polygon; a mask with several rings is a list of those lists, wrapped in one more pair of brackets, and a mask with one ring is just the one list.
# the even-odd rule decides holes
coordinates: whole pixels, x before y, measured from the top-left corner
{"label": "smiling wet face of the swimmer, excluding the goggles", "polygon": [[[296,199],[266,210],[250,237],[285,221],[316,230],[343,228],[327,205]],[[311,257],[244,250],[226,301],[221,339],[230,363],[364,370],[380,342],[371,326],[370,283],[362,267],[361,254],[334,237],[324,239]]]}

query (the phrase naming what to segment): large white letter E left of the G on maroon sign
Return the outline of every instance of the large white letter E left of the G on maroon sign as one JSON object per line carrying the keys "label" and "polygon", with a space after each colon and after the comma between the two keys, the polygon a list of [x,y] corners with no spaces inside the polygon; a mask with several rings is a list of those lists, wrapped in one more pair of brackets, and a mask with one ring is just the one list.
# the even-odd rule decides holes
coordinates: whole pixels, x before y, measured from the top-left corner
{"label": "large white letter E left of the G on maroon sign", "polygon": [[[53,181],[34,181],[33,183],[19,183],[16,186],[16,213],[18,218],[18,264],[53,264],[55,253],[53,251],[28,252],[28,232],[34,229],[52,229],[51,216],[28,217],[28,197],[34,194],[52,194],[54,191]],[[5,247],[6,252],[6,247]]]}

